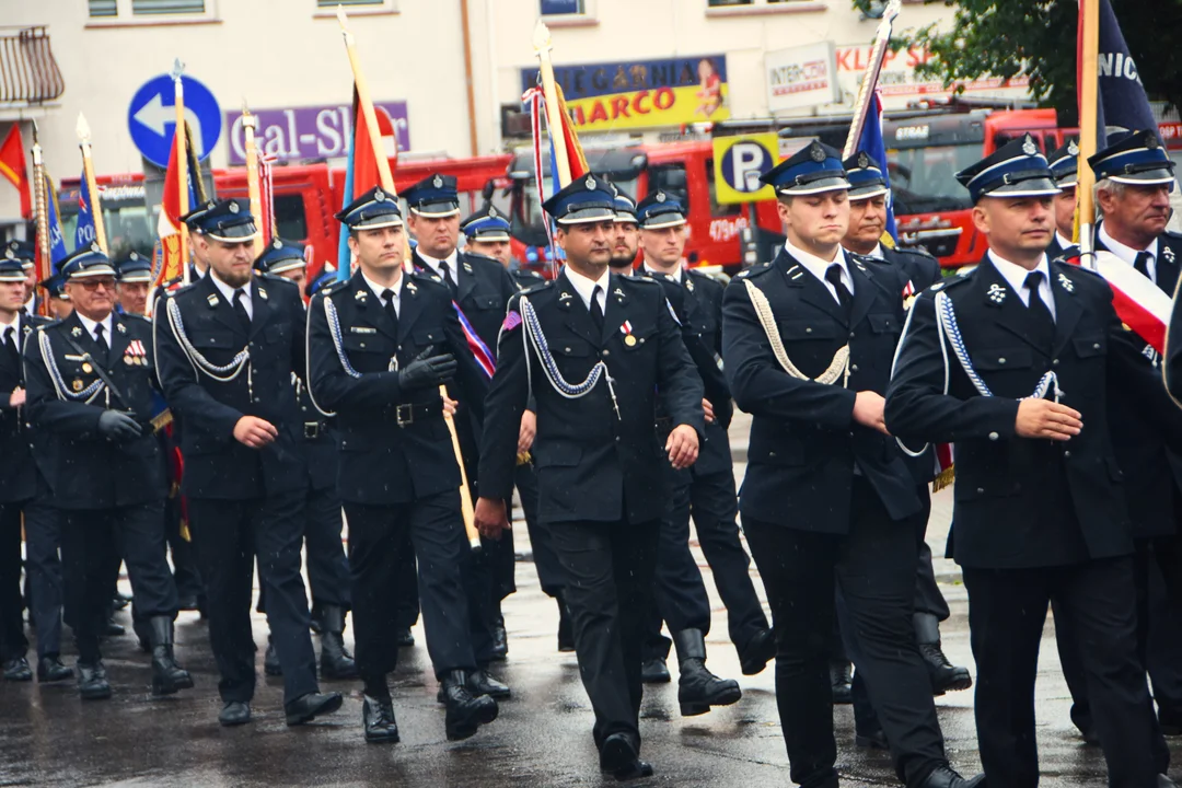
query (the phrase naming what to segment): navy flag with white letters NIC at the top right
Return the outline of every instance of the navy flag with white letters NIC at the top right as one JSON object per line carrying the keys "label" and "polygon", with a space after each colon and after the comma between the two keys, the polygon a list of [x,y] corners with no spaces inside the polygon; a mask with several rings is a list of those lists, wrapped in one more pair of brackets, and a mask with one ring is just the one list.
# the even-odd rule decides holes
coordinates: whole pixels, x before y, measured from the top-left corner
{"label": "navy flag with white letters NIC at the top right", "polygon": [[1121,25],[1109,0],[1099,0],[1099,108],[1097,125],[1100,146],[1106,139],[1105,126],[1130,131],[1157,130],[1149,106],[1145,86],[1137,74],[1137,64],[1124,43]]}

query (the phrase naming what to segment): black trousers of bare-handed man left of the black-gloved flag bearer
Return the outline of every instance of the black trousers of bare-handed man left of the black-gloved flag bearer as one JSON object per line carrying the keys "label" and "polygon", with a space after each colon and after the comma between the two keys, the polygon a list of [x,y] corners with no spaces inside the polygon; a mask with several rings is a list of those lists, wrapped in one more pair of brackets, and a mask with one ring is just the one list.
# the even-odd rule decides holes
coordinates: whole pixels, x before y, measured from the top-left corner
{"label": "black trousers of bare-handed man left of the black-gloved flag bearer", "polygon": [[284,671],[284,701],[316,692],[316,652],[309,633],[307,597],[300,575],[304,490],[226,501],[189,499],[190,529],[206,586],[209,643],[222,701],[254,696],[251,627],[254,560],[267,594],[267,624]]}

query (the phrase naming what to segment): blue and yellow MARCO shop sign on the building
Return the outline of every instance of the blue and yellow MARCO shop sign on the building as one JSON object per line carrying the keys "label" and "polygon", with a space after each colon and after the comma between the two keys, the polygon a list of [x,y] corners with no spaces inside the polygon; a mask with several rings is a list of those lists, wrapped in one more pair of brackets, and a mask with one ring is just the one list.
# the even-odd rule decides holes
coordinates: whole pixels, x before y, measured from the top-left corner
{"label": "blue and yellow MARCO shop sign on the building", "polygon": [[[525,90],[538,70],[522,69]],[[577,131],[623,131],[726,121],[727,56],[554,66]]]}

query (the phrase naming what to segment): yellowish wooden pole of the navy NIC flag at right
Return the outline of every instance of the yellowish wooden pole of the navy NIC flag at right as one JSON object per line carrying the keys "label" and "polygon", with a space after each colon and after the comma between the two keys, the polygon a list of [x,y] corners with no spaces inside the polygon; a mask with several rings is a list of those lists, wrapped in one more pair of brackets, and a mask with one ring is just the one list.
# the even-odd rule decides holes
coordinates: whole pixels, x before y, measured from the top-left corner
{"label": "yellowish wooden pole of the navy NIC flag at right", "polygon": [[1096,174],[1087,158],[1096,155],[1099,145],[1099,4],[1097,0],[1080,0],[1079,13],[1084,15],[1083,48],[1079,52],[1079,167],[1076,183],[1076,237],[1079,243],[1080,262],[1096,267],[1096,241],[1092,226],[1096,221]]}

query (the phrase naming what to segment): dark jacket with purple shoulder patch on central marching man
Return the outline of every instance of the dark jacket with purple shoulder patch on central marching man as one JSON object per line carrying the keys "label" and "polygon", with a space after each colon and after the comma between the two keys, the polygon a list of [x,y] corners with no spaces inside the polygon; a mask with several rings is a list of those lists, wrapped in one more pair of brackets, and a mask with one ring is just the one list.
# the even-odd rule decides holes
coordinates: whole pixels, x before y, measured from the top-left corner
{"label": "dark jacket with purple shoulder patch on central marching man", "polygon": [[541,522],[661,517],[663,465],[669,460],[654,434],[656,399],[674,424],[691,425],[699,437],[704,421],[702,382],[661,287],[611,274],[602,332],[565,274],[514,297],[511,313],[521,313],[524,299],[537,311],[553,364],[567,383],[582,383],[598,362],[606,363],[619,412],[612,406],[606,376],[576,399],[556,391],[538,352],[531,349],[526,356],[525,327],[513,326],[511,318],[485,403],[481,495],[507,501],[513,494],[518,428],[532,392]]}

